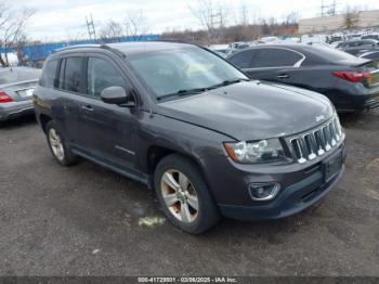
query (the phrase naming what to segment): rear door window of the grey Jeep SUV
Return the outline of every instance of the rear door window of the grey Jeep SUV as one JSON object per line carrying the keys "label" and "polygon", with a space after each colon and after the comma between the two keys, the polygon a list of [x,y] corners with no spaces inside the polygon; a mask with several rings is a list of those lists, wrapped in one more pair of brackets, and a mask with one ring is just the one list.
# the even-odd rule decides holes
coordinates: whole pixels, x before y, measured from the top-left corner
{"label": "rear door window of the grey Jeep SUV", "polygon": [[60,70],[60,88],[70,92],[82,90],[83,57],[67,57],[62,61]]}

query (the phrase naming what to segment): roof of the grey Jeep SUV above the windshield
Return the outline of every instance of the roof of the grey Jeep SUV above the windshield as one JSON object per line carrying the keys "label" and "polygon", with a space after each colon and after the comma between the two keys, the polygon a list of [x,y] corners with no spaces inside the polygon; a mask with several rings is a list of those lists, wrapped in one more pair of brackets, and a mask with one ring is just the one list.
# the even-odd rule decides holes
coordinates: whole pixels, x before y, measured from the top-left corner
{"label": "roof of the grey Jeep SUV above the windshield", "polygon": [[192,47],[191,43],[179,43],[179,42],[165,42],[165,41],[139,41],[139,42],[120,42],[120,43],[108,43],[108,44],[81,44],[71,46],[58,50],[68,51],[73,49],[89,49],[89,48],[110,48],[122,52],[126,55],[139,54],[152,51],[162,51],[162,50],[174,50],[185,47]]}

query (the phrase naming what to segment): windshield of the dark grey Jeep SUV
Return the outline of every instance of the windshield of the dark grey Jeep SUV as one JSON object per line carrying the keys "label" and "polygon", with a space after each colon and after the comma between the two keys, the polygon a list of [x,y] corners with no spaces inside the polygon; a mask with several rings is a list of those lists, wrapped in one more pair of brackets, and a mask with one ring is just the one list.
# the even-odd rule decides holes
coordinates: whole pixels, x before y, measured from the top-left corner
{"label": "windshield of the dark grey Jeep SUV", "polygon": [[157,51],[128,56],[127,60],[158,100],[248,80],[231,64],[200,48]]}

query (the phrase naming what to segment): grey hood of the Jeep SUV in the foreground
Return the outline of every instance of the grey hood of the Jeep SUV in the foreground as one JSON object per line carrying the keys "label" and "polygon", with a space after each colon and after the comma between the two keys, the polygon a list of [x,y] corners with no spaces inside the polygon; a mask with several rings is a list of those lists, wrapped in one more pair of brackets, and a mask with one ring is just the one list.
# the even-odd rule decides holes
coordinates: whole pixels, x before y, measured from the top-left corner
{"label": "grey hood of the Jeep SUV in the foreground", "polygon": [[329,119],[334,107],[322,94],[277,83],[239,82],[158,104],[161,115],[239,141],[295,134]]}

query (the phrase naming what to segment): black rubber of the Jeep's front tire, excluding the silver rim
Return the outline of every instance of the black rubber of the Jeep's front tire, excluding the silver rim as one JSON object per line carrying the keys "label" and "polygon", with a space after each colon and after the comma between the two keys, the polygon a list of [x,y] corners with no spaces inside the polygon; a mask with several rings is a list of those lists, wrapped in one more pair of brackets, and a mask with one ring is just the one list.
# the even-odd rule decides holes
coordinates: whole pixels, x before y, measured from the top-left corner
{"label": "black rubber of the Jeep's front tire, excluding the silver rim", "polygon": [[[160,180],[162,175],[169,169],[175,169],[183,172],[191,180],[192,184],[195,188],[198,196],[199,210],[198,216],[194,222],[181,222],[171,214],[165,204],[160,189]],[[209,230],[219,221],[219,210],[208,190],[207,183],[205,182],[202,175],[198,169],[198,166],[191,159],[178,154],[164,158],[156,167],[154,175],[154,188],[160,207],[164,210],[165,215],[171,223],[181,230],[192,234],[199,234]]]}

